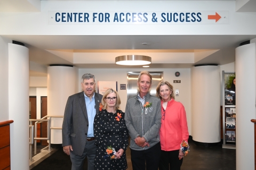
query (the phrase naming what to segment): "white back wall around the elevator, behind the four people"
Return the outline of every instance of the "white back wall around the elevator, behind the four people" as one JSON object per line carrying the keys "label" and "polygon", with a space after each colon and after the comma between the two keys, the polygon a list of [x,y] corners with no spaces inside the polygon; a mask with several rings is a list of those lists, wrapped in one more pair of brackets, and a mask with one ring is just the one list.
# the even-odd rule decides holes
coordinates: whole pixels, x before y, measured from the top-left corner
{"label": "white back wall around the elevator, behind the four people", "polygon": [[[81,78],[85,73],[95,75],[96,81],[117,81],[117,92],[121,98],[120,109],[125,111],[127,100],[127,91],[120,90],[120,84],[126,84],[127,87],[127,72],[128,71],[163,71],[164,81],[169,81],[174,89],[179,89],[179,96],[175,100],[180,101],[187,113],[187,122],[189,134],[191,134],[191,111],[190,111],[190,69],[79,69],[79,91],[81,91]],[[175,77],[174,73],[179,71],[180,77]],[[181,80],[181,83],[173,83],[173,80]],[[97,87],[96,87],[97,90]]]}

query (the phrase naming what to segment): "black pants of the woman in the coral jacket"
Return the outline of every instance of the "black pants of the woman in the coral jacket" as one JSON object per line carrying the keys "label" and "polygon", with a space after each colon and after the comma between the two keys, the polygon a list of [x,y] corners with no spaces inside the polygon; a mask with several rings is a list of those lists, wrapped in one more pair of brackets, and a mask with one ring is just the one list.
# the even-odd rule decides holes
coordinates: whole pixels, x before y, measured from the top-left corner
{"label": "black pants of the woman in the coral jacket", "polygon": [[161,159],[159,170],[180,170],[183,158],[179,159],[179,150],[164,151],[161,150]]}

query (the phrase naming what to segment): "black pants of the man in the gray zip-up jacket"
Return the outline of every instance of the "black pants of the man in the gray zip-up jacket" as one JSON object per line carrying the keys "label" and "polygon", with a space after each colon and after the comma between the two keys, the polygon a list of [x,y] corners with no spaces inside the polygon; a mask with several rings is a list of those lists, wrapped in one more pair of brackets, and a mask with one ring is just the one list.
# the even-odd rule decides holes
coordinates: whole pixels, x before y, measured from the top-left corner
{"label": "black pants of the man in the gray zip-up jacket", "polygon": [[[131,160],[133,170],[157,170],[161,156],[161,145],[158,142],[155,146],[146,150],[131,149]],[[146,165],[145,165],[146,164]]]}

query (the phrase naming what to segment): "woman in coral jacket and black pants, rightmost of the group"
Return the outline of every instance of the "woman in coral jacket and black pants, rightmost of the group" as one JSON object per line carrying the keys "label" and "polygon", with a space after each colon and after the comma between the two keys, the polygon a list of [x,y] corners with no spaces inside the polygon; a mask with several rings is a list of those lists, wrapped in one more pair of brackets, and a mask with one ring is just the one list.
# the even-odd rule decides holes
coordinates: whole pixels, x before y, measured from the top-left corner
{"label": "woman in coral jacket and black pants, rightmost of the group", "polygon": [[160,82],[156,91],[162,106],[159,170],[178,170],[181,167],[183,156],[189,151],[185,108],[180,102],[174,100],[173,86],[169,82]]}

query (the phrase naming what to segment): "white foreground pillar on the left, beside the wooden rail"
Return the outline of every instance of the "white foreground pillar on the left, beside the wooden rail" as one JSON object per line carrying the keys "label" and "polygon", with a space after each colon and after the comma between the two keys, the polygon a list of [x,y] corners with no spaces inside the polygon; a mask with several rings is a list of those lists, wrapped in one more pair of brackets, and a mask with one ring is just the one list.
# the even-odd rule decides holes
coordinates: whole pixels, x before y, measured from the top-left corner
{"label": "white foreground pillar on the left, beside the wooden rail", "polygon": [[29,54],[28,48],[8,44],[11,169],[29,169]]}

